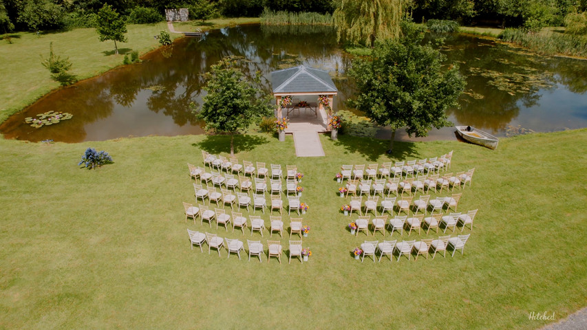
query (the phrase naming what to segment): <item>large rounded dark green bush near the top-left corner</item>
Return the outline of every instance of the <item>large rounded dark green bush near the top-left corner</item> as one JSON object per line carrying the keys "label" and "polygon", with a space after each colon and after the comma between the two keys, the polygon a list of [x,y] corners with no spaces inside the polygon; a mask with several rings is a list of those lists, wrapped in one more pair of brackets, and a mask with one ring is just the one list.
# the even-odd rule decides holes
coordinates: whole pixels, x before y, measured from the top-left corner
{"label": "large rounded dark green bush near the top-left corner", "polygon": [[51,0],[27,0],[19,12],[18,21],[32,31],[60,29],[64,26],[65,11]]}

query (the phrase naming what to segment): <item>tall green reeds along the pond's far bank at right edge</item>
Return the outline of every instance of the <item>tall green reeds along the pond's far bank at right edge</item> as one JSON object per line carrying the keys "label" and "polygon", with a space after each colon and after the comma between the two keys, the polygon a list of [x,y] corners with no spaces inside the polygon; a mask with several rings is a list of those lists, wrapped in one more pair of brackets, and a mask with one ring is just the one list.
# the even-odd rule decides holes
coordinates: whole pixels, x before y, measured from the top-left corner
{"label": "tall green reeds along the pond's far bank at right edge", "polygon": [[522,29],[506,29],[499,38],[528,47],[538,54],[587,57],[587,38],[584,36],[562,33],[533,34]]}

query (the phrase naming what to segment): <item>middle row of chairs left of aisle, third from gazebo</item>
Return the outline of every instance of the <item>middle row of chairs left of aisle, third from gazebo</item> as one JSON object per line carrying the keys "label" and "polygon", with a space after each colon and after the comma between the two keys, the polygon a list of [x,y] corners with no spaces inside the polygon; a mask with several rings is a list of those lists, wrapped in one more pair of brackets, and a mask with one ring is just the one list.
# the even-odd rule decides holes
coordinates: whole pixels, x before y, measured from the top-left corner
{"label": "middle row of chairs left of aisle, third from gazebo", "polygon": [[[238,204],[239,208],[246,208],[249,210],[249,207],[253,208],[253,213],[260,208],[262,212],[265,214],[265,209],[269,209],[270,212],[273,213],[274,210],[282,214],[284,210],[284,200],[281,199],[281,195],[270,195],[270,203],[267,203],[267,199],[265,194],[257,194],[253,193],[252,196],[249,196],[245,192],[237,192],[237,195],[233,195],[231,190],[222,189],[222,192],[218,192],[216,188],[205,187],[199,184],[193,184],[194,194],[195,194],[195,201],[198,203],[200,199],[202,199],[202,203],[205,205],[206,199],[208,199],[208,205],[210,205],[213,201],[216,203],[216,206],[222,205],[226,206],[227,204],[231,206],[231,210],[234,209],[234,205]],[[299,214],[301,210],[301,202],[300,197],[297,195],[295,196],[288,196],[288,214],[291,214],[292,210]]]}

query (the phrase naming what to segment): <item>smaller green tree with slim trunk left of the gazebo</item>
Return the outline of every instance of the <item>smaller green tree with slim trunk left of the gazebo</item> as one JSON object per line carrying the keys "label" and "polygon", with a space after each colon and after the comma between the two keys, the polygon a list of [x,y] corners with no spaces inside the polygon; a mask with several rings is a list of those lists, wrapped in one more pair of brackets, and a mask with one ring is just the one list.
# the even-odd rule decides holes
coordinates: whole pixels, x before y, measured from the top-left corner
{"label": "smaller green tree with slim trunk left of the gazebo", "polygon": [[272,113],[270,96],[261,88],[261,73],[247,81],[236,64],[231,58],[223,58],[206,72],[204,90],[208,94],[198,112],[206,129],[231,135],[231,155],[235,152],[234,135]]}

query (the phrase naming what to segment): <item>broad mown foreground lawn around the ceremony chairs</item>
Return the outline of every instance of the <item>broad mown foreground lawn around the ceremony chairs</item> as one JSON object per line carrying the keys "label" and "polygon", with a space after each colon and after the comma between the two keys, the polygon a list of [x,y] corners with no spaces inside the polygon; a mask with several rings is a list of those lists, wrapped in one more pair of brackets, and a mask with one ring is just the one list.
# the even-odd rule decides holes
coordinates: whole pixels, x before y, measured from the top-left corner
{"label": "broad mown foreground lawn around the ceremony chairs", "polygon": [[[544,321],[529,320],[531,311],[554,312],[558,320],[584,307],[587,129],[502,139],[496,151],[459,142],[396,142],[393,159],[454,150],[453,172],[476,168],[458,210],[479,208],[464,256],[399,263],[350,256],[373,236],[346,230],[354,217],[339,211],[345,199],[334,180],[341,164],[388,159],[382,155],[387,142],[344,135],[321,142],[326,157],[297,158],[291,137],[284,143],[269,135],[236,139],[239,159],[297,164],[305,175],[302,201],[310,210],[303,219],[312,230],[303,242],[313,256],[288,265],[284,254],[279,265],[189,247],[186,228],[251,237],[184,222],[182,201],[194,200],[186,162],[202,164],[201,148],[226,155],[227,137],[0,140],[0,324],[536,329]],[[88,146],[109,152],[114,164],[78,168]],[[268,233],[253,238],[266,243]]]}

